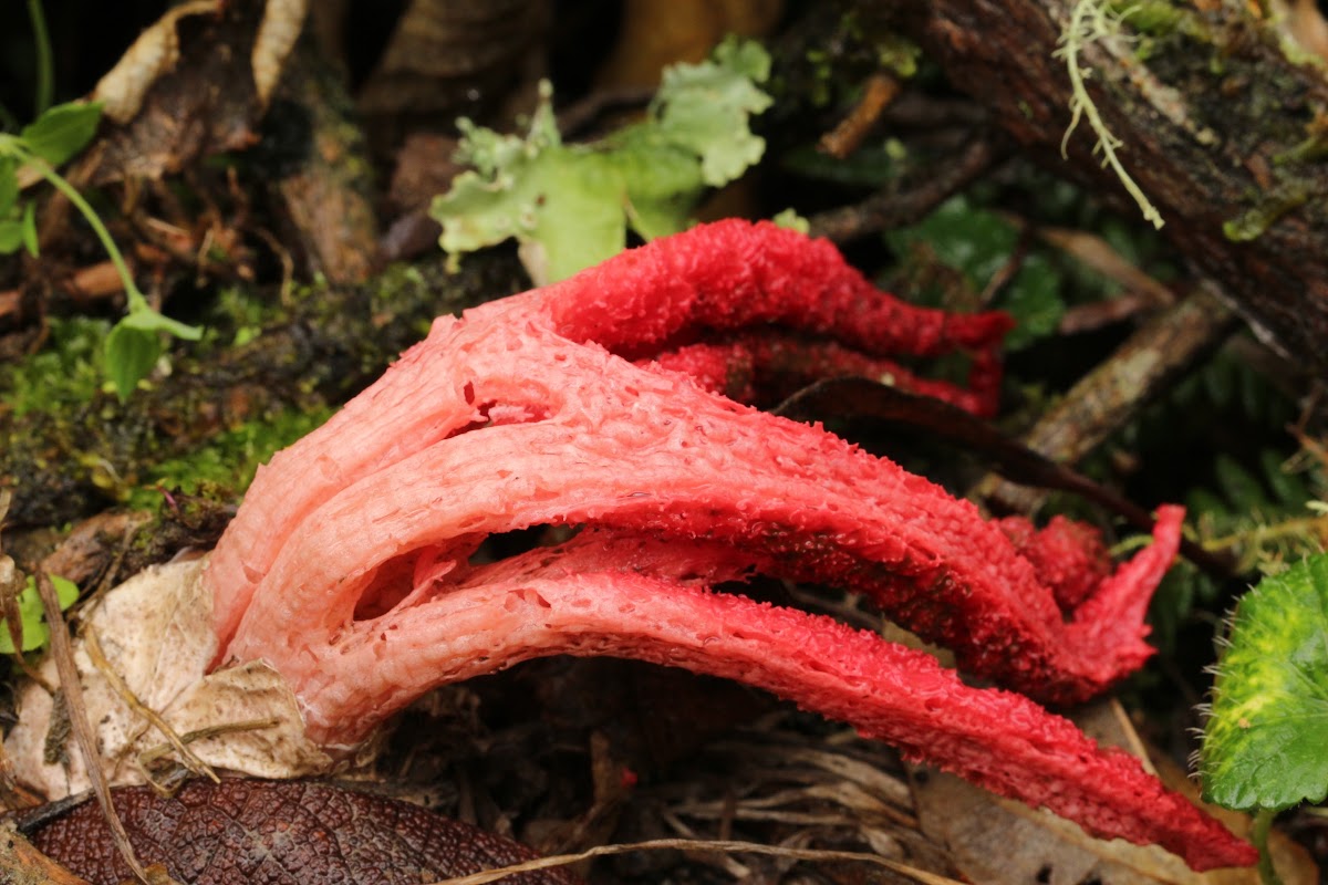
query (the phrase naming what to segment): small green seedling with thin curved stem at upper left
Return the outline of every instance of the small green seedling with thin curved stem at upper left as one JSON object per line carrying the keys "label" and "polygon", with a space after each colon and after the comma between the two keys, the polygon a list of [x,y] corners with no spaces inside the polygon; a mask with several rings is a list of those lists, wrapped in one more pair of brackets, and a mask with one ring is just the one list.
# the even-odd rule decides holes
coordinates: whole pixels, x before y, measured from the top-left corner
{"label": "small green seedling with thin curved stem at upper left", "polygon": [[101,218],[82,194],[56,171],[92,141],[100,119],[101,105],[68,102],[48,109],[17,135],[0,133],[0,253],[27,248],[31,255],[37,255],[33,203],[20,200],[24,180],[45,179],[82,214],[116,265],[129,303],[129,313],[106,337],[106,374],[120,398],[125,399],[161,357],[158,333],[169,332],[195,341],[202,330],[165,317],[147,304]]}

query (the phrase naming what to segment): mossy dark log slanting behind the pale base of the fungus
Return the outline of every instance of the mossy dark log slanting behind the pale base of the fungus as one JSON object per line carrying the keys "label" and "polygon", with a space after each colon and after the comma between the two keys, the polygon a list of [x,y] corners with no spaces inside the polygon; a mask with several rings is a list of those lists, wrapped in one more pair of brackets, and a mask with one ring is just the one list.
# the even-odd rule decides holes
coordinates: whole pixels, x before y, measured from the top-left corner
{"label": "mossy dark log slanting behind the pale base of the fungus", "polygon": [[15,492],[9,521],[58,525],[126,503],[163,463],[242,427],[299,435],[308,429],[299,415],[325,414],[357,393],[434,316],[525,287],[507,253],[475,256],[456,275],[442,263],[311,288],[242,346],[220,337],[212,346],[177,344],[170,374],[124,403],[101,390],[73,407],[45,409],[41,381],[27,378],[29,389],[15,391],[27,410],[0,411],[0,483]]}

